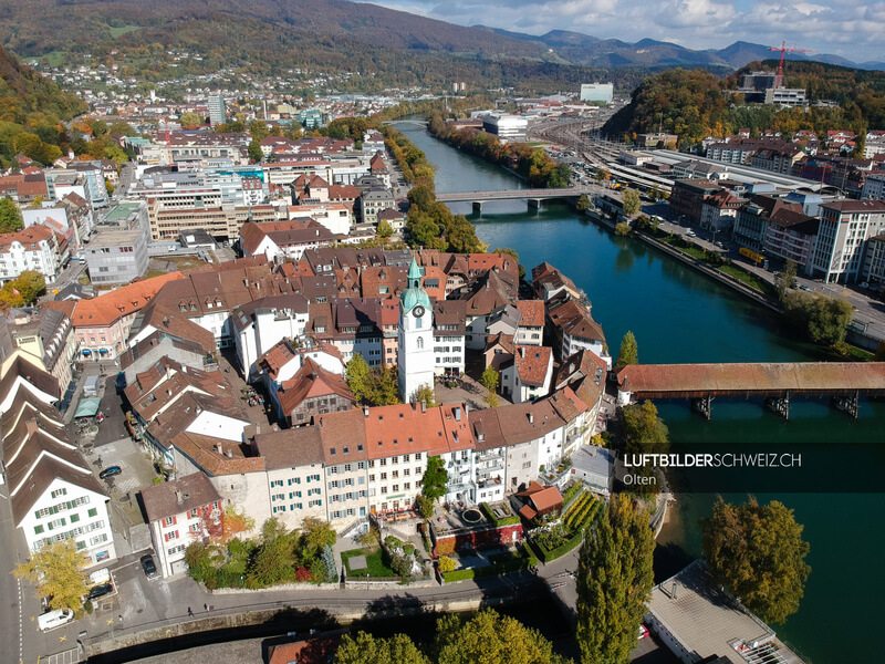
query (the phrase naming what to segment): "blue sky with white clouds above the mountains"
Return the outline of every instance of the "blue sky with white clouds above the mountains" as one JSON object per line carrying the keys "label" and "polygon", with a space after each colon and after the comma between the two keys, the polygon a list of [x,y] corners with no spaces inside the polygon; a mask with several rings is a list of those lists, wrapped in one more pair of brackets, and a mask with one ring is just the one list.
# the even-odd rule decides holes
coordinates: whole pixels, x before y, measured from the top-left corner
{"label": "blue sky with white clouds above the mountains", "polygon": [[885,1],[821,0],[371,0],[461,25],[528,34],[573,30],[601,39],[650,38],[689,49],[736,41],[885,61]]}

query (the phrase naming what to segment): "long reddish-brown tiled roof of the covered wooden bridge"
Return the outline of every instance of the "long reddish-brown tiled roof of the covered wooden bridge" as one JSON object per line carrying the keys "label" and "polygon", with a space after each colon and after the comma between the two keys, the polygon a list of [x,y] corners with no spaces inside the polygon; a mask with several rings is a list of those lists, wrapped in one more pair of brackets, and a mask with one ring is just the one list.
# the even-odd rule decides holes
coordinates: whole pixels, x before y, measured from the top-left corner
{"label": "long reddish-brown tiled roof of the covered wooden bridge", "polygon": [[885,362],[637,364],[617,373],[618,387],[662,397],[699,393],[885,392]]}

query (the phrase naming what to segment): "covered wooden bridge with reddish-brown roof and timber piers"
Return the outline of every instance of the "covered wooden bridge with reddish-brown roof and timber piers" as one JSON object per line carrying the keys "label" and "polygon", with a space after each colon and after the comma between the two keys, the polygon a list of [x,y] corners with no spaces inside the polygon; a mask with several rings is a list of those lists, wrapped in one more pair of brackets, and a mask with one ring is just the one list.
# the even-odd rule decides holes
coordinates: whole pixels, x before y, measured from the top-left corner
{"label": "covered wooden bridge with reddish-brown roof and timber piers", "polygon": [[830,397],[857,417],[861,396],[885,396],[885,362],[636,364],[617,374],[620,404],[638,400],[690,400],[707,419],[716,397],[762,397],[784,419],[790,397]]}

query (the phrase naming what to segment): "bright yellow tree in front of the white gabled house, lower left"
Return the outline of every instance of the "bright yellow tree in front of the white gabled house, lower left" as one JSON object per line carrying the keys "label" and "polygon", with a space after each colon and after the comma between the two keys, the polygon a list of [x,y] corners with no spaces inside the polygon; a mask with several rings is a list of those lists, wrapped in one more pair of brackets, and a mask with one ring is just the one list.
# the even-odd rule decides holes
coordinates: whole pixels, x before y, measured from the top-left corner
{"label": "bright yellow tree in front of the white gabled house, lower left", "polygon": [[85,553],[77,551],[73,538],[46,544],[31,554],[28,562],[15,566],[17,579],[27,579],[37,596],[49,598],[50,609],[79,610],[83,605],[86,574],[90,563]]}

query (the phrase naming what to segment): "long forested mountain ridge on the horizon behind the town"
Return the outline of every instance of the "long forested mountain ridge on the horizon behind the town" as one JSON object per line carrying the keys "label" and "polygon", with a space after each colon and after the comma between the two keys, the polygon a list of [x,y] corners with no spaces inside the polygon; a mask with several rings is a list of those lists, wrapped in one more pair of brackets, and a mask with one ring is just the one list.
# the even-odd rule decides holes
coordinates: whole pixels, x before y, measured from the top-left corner
{"label": "long forested mountain ridge on the horizon behind the town", "polygon": [[[229,66],[264,75],[292,68],[356,71],[361,76],[345,91],[366,92],[452,81],[552,92],[602,79],[632,89],[642,75],[666,68],[727,74],[767,53],[742,42],[694,51],[563,30],[537,37],[346,0],[0,0],[0,43],[21,56],[51,53],[55,61],[88,53],[93,63],[110,63],[118,51],[113,62],[123,59],[128,73],[148,81]],[[204,59],[169,68],[156,56],[169,49]]]}

